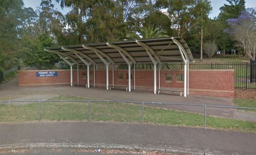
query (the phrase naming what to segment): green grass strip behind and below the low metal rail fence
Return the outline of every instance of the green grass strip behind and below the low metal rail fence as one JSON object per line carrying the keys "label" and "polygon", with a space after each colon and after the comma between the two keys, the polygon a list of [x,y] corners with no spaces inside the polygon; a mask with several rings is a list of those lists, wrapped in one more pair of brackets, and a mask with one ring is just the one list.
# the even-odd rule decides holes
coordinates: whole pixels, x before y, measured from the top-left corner
{"label": "green grass strip behind and below the low metal rail fence", "polygon": [[[85,100],[74,96],[58,96],[51,100]],[[38,103],[26,105],[0,104],[0,122],[38,121]],[[88,103],[42,102],[42,121],[88,121]],[[140,123],[141,105],[128,103],[91,103],[91,121]],[[144,122],[164,125],[203,127],[204,116],[195,113],[145,106]],[[250,131],[256,123],[207,116],[207,127]]]}

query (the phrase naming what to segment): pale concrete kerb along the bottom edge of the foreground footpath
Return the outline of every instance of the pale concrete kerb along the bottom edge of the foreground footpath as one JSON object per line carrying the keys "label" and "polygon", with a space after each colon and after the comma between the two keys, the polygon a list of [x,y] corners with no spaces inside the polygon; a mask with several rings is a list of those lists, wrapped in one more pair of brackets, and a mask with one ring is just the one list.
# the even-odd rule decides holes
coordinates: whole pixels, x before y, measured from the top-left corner
{"label": "pale concrete kerb along the bottom edge of the foreground footpath", "polygon": [[197,150],[197,149],[183,149],[183,148],[166,148],[166,147],[143,147],[143,146],[132,146],[132,145],[114,145],[114,144],[83,144],[83,143],[19,143],[19,144],[6,144],[0,145],[1,150],[22,150],[22,149],[40,149],[40,148],[74,148],[74,149],[107,149],[107,150],[136,150],[136,151],[160,151],[166,153],[178,153],[182,154],[207,154],[207,155],[226,155],[225,153],[219,151],[206,150]]}

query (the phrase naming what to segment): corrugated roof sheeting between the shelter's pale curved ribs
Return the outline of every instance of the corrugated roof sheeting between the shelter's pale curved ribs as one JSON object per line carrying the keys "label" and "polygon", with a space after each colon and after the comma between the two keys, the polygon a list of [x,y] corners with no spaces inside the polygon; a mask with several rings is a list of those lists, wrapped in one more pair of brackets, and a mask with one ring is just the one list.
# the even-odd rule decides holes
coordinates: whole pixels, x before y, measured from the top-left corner
{"label": "corrugated roof sheeting between the shelter's pale curved ribs", "polygon": [[[144,43],[146,46],[150,47],[154,52],[155,56],[159,58],[161,62],[177,62],[177,61],[183,61],[180,48],[179,46],[173,41],[173,39],[177,40],[180,45],[185,50],[185,55],[188,57],[188,62],[193,61],[193,56],[191,54],[191,51],[185,42],[185,40],[181,37],[164,37],[164,38],[152,38],[152,39],[140,39],[139,42]],[[100,42],[100,43],[87,43],[84,45],[72,45],[72,46],[63,46],[63,47],[53,47],[53,48],[47,48],[47,50],[55,51],[61,53],[63,56],[70,56],[73,59],[75,59],[79,63],[83,63],[74,52],[63,50],[65,49],[72,49],[79,51],[85,55],[87,55],[89,58],[91,58],[96,63],[103,63],[102,60],[97,56],[97,54],[92,51],[83,48],[83,46],[86,47],[92,47],[97,50],[100,50],[107,56],[109,56],[114,63],[126,63],[121,54],[118,52],[117,49],[111,48],[108,46],[108,44],[118,46],[125,50],[129,55],[131,55],[136,63],[142,63],[142,62],[152,62],[151,58],[148,56],[148,53],[146,52],[145,48],[138,45],[136,40],[124,40],[124,41],[112,41],[112,42]],[[124,54],[125,55],[125,54]],[[81,55],[80,55],[81,56]],[[81,56],[83,57],[83,56]],[[108,60],[106,57],[102,56],[105,60]],[[125,57],[131,61],[129,56],[125,55]],[[154,57],[154,54],[153,54]],[[87,58],[83,57],[85,60],[89,61]]]}

